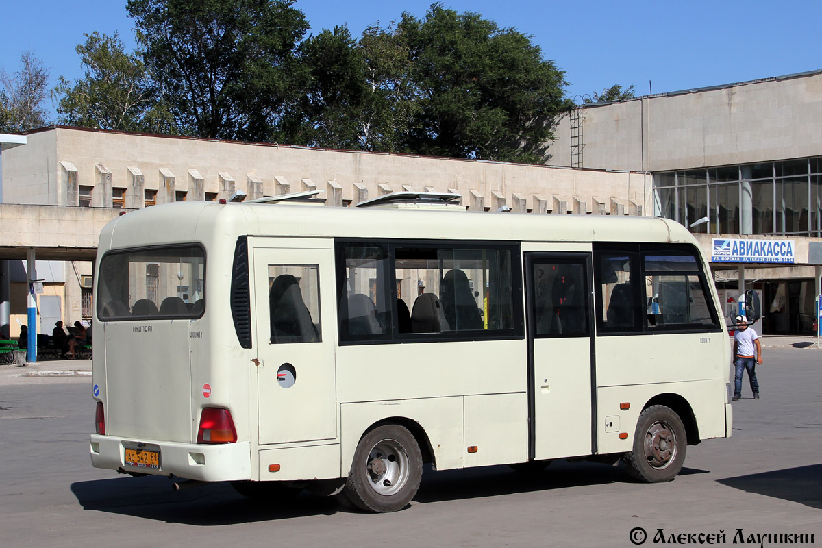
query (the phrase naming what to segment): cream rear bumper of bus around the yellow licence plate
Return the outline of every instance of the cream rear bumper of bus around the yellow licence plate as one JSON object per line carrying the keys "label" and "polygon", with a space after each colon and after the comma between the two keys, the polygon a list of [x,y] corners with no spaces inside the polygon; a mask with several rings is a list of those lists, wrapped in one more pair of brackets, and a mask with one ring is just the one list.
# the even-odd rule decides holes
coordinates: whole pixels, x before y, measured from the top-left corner
{"label": "cream rear bumper of bus around the yellow licence plate", "polygon": [[[126,449],[159,453],[158,467],[126,464]],[[171,441],[134,440],[112,435],[92,434],[91,464],[97,468],[122,470],[159,476],[182,477],[199,481],[251,479],[251,443],[179,444]]]}

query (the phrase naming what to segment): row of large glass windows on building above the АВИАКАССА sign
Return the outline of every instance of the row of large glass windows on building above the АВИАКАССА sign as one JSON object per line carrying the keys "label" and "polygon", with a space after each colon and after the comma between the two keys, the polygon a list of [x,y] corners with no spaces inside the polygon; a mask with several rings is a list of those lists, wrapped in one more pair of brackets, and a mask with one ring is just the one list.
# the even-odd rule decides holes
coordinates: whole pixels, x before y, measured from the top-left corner
{"label": "row of large glass windows on building above the \u0410\u0412\u0418\u0410\u041a\u0410\u0421\u0421\u0410 sign", "polygon": [[822,158],[653,174],[653,214],[693,233],[822,236]]}

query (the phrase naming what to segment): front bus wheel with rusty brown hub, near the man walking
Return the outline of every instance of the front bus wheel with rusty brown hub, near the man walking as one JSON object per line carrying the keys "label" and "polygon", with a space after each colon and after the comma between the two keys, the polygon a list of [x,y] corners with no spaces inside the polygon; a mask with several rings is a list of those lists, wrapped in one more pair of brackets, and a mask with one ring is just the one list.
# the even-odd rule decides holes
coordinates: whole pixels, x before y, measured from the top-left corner
{"label": "front bus wheel with rusty brown hub, near the man walking", "polygon": [[687,435],[679,415],[664,405],[640,413],[634,433],[634,450],[622,462],[635,480],[644,483],[671,481],[685,462]]}

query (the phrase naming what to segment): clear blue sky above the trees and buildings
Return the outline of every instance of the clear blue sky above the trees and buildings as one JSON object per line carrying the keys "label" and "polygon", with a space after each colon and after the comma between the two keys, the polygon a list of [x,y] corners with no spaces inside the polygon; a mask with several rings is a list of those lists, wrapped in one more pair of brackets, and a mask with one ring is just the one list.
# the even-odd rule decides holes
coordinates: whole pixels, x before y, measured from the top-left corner
{"label": "clear blue sky above the trees and buildings", "polygon": [[[424,17],[430,0],[297,0],[316,34],[347,25],[361,35],[403,12]],[[530,35],[543,58],[566,71],[566,94],[593,94],[614,84],[637,95],[689,90],[822,69],[819,0],[688,0],[552,2],[451,0],[503,28]],[[126,0],[0,0],[0,67],[12,73],[31,49],[58,76],[82,76],[75,48],[83,33],[119,33],[134,48]],[[52,117],[56,117],[53,105]]]}

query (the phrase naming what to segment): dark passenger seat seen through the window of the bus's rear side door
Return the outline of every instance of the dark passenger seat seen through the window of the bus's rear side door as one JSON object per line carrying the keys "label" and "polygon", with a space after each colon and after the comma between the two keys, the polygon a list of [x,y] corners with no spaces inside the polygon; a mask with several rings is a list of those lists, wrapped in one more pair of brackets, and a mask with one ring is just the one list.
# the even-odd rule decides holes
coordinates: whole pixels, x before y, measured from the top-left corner
{"label": "dark passenger seat seen through the window of the bus's rear side door", "polygon": [[277,276],[269,291],[271,343],[314,343],[319,341],[311,312],[302,300],[297,279]]}

